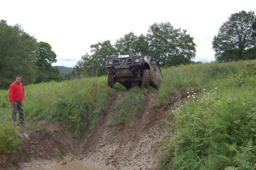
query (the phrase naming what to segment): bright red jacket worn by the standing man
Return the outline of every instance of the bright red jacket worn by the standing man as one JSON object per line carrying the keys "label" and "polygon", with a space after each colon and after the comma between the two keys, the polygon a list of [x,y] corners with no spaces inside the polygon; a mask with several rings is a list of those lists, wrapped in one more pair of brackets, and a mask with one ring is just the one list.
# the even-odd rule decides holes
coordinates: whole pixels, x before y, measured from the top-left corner
{"label": "bright red jacket worn by the standing man", "polygon": [[18,84],[14,81],[9,89],[9,100],[11,103],[15,102],[22,102],[25,96],[24,86],[22,83]]}

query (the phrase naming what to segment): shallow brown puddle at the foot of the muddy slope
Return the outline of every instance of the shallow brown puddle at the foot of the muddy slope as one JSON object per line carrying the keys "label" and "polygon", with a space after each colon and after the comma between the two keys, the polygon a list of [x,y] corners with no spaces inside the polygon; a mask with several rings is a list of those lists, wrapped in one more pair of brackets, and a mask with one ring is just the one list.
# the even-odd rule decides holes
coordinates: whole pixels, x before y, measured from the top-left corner
{"label": "shallow brown puddle at the foot of the muddy slope", "polygon": [[107,168],[100,166],[92,166],[83,163],[68,162],[61,166],[34,166],[29,170],[106,170]]}

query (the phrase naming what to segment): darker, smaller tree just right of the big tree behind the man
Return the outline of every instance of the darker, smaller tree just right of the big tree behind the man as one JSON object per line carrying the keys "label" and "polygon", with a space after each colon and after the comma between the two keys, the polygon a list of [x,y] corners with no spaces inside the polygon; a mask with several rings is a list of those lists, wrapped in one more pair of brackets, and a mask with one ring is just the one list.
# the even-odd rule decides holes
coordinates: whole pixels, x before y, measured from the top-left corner
{"label": "darker, smaller tree just right of the big tree behind the man", "polygon": [[61,77],[59,68],[52,67],[51,65],[57,61],[57,55],[52,51],[51,45],[42,41],[37,43],[35,54],[37,57],[35,64],[38,66],[36,83],[60,81],[59,78]]}

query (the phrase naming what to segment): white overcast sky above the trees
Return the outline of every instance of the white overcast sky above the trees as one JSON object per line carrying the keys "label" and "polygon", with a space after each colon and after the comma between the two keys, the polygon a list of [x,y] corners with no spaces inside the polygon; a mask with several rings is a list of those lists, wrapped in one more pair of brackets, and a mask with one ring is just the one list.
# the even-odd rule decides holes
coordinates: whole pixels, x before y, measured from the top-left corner
{"label": "white overcast sky above the trees", "polygon": [[231,14],[256,12],[255,0],[4,0],[0,19],[19,23],[38,42],[52,46],[57,63],[74,67],[90,45],[116,40],[129,32],[147,35],[149,27],[169,21],[174,28],[187,29],[197,45],[195,61],[214,60],[212,40]]}

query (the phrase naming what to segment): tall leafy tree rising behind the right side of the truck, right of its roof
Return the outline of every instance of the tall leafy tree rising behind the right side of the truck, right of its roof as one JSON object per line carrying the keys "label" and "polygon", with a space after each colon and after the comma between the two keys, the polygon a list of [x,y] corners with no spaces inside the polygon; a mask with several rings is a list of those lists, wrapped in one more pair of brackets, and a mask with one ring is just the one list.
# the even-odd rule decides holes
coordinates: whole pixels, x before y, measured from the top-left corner
{"label": "tall leafy tree rising behind the right side of the truck, right of its roof", "polygon": [[149,56],[161,67],[190,63],[196,57],[196,44],[186,32],[174,29],[169,22],[154,23],[147,34]]}

